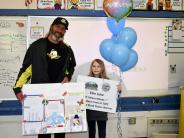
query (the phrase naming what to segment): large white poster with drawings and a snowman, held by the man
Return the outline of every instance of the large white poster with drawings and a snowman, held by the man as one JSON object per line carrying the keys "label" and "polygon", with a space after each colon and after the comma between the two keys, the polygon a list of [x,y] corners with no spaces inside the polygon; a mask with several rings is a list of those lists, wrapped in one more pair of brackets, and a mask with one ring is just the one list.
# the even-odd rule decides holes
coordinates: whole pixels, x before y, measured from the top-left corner
{"label": "large white poster with drawings and a snowman, held by the man", "polygon": [[23,86],[23,135],[87,131],[83,83]]}

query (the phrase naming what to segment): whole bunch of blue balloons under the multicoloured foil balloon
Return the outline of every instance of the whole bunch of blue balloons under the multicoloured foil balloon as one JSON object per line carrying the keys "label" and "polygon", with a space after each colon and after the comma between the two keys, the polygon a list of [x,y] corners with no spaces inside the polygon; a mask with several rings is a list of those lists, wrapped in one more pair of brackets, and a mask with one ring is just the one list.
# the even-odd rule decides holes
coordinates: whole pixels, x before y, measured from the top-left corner
{"label": "whole bunch of blue balloons under the multicoloured foil balloon", "polygon": [[138,61],[138,55],[132,47],[137,41],[137,34],[131,27],[124,27],[125,19],[107,18],[108,29],[113,34],[111,39],[105,39],[100,44],[101,56],[117,65],[122,72],[134,67]]}

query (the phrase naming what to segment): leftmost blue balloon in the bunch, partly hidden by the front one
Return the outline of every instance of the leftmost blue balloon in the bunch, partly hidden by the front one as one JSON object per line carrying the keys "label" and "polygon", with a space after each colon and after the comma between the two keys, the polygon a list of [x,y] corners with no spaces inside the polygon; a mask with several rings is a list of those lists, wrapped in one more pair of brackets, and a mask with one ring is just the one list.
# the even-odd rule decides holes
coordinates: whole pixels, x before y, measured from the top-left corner
{"label": "leftmost blue balloon in the bunch, partly hidden by the front one", "polygon": [[113,50],[114,42],[111,39],[104,39],[100,43],[100,54],[101,56],[111,62],[111,54]]}

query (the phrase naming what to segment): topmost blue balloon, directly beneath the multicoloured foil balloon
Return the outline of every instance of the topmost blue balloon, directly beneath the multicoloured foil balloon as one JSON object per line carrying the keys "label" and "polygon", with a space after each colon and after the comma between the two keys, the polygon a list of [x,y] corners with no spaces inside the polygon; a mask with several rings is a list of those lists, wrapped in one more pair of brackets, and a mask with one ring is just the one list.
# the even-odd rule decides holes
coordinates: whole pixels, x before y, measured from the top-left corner
{"label": "topmost blue balloon, directly beneath the multicoloured foil balloon", "polygon": [[125,19],[117,22],[114,18],[107,18],[107,27],[113,35],[117,35],[125,26]]}

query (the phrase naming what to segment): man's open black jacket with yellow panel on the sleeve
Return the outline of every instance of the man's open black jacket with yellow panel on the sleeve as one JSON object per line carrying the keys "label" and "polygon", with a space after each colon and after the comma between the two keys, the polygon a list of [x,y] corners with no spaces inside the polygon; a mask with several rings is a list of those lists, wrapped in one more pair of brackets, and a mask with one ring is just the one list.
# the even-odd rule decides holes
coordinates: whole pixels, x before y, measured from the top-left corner
{"label": "man's open black jacket with yellow panel on the sleeve", "polygon": [[[61,46],[66,51],[66,62],[63,64],[63,69],[58,76],[57,82],[61,82],[65,76],[71,79],[74,68],[76,66],[75,57],[70,46],[61,42]],[[23,60],[22,68],[19,71],[15,86],[13,88],[15,94],[21,92],[23,84],[31,79],[31,83],[50,83],[48,76],[47,63],[47,38],[41,38],[33,42],[28,48]]]}

